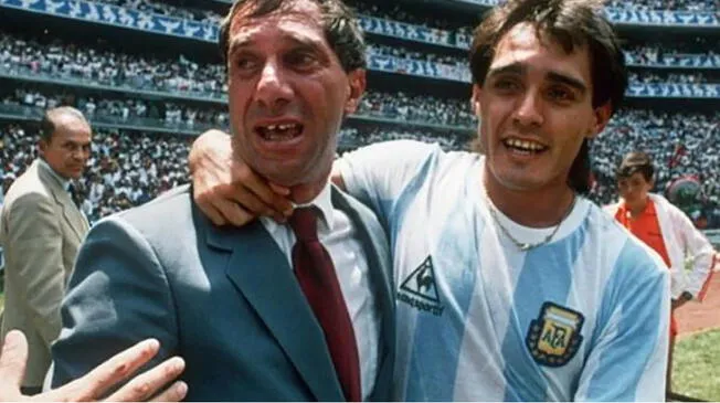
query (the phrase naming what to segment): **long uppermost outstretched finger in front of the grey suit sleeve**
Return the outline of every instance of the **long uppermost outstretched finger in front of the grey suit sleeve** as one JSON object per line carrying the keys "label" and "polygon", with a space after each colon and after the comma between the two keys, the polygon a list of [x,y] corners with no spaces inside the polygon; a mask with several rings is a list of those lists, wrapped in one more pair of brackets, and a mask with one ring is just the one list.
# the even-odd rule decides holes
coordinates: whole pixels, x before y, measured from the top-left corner
{"label": "long uppermost outstretched finger in front of the grey suit sleeve", "polygon": [[148,339],[115,354],[85,377],[51,392],[50,400],[95,401],[126,380],[160,350],[158,340]]}

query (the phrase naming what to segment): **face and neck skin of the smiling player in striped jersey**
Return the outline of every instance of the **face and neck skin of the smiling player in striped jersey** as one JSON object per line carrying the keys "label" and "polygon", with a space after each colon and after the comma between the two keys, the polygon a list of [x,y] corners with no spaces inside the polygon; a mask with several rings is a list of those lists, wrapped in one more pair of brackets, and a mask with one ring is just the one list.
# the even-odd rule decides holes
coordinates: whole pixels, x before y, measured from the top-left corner
{"label": "face and neck skin of the smiling player in striped jersey", "polygon": [[[550,39],[539,40],[531,25],[518,24],[499,41],[483,86],[473,88],[488,194],[520,224],[561,220],[572,203],[567,181],[580,146],[610,118],[608,105],[592,106],[590,63],[586,46],[568,54]],[[508,140],[540,150],[520,152]]]}

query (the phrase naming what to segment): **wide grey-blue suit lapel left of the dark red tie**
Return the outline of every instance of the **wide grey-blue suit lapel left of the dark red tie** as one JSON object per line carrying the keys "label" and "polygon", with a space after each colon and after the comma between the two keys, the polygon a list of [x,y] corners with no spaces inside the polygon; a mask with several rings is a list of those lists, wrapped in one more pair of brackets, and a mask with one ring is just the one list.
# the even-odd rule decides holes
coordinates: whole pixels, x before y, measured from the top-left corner
{"label": "wide grey-blue suit lapel left of the dark red tie", "polygon": [[343,401],[325,336],[287,259],[260,221],[208,222],[208,243],[231,253],[225,274],[253,306],[319,401]]}

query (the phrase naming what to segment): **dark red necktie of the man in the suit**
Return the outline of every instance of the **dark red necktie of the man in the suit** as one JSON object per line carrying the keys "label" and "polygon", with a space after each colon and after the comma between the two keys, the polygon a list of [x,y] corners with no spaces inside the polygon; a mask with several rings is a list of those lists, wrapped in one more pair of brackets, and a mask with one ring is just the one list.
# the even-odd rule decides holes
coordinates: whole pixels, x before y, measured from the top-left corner
{"label": "dark red necktie of the man in the suit", "polygon": [[295,276],[322,327],[346,400],[359,402],[360,360],[352,321],[332,259],[318,240],[315,209],[295,209],[289,224],[297,237],[293,246]]}

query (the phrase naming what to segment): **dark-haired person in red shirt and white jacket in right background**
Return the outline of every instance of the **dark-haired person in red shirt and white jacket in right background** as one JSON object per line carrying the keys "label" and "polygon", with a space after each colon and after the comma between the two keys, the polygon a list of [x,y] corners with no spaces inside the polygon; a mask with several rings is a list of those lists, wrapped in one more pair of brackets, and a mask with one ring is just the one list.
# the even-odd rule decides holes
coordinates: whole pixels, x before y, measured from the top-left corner
{"label": "dark-haired person in red shirt and white jacket in right background", "polygon": [[666,383],[669,392],[678,332],[675,310],[691,299],[702,300],[714,265],[714,251],[680,209],[650,192],[655,185],[655,167],[646,153],[627,153],[616,178],[621,201],[605,210],[657,252],[671,272],[673,314]]}

